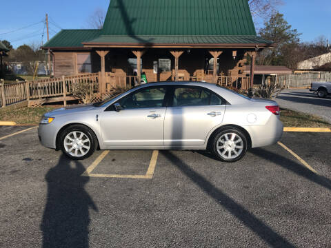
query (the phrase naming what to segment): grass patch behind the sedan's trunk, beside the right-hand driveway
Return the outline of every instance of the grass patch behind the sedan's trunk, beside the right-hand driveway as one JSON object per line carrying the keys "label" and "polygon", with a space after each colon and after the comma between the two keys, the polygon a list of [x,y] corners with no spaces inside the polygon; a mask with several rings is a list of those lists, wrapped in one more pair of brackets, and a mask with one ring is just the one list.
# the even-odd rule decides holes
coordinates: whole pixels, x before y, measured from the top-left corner
{"label": "grass patch behind the sedan's trunk, beside the right-hand driveway", "polygon": [[285,109],[281,110],[281,121],[285,127],[331,127],[319,116]]}

